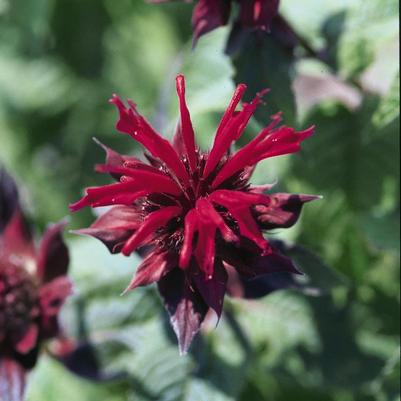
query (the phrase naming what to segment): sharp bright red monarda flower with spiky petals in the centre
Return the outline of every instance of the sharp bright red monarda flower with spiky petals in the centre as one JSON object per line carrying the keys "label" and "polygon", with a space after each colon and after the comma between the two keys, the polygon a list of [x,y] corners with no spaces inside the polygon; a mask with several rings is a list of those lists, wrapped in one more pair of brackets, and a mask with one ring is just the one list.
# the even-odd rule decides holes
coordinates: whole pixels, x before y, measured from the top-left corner
{"label": "sharp bright red monarda flower with spiky petals in the centre", "polygon": [[249,182],[258,162],[298,151],[313,127],[298,132],[280,126],[277,114],[253,140],[230,154],[265,93],[237,111],[246,89],[239,85],[212,149],[202,152],[195,142],[182,75],[176,87],[181,117],[172,143],[150,126],[132,101],[126,106],[118,96],[112,97],[110,102],[119,111],[117,129],[146,148],[149,163],[102,145],[106,163],[97,171],[118,182],[88,188],[70,208],[113,206],[78,233],[98,238],[112,253],[128,256],[145,250],[147,256],[126,291],[158,283],[180,350],[186,352],[208,309],[217,316],[222,312],[227,269],[247,279],[298,272],[290,259],[270,246],[263,231],[292,226],[303,203],[316,196],[267,194],[271,186]]}

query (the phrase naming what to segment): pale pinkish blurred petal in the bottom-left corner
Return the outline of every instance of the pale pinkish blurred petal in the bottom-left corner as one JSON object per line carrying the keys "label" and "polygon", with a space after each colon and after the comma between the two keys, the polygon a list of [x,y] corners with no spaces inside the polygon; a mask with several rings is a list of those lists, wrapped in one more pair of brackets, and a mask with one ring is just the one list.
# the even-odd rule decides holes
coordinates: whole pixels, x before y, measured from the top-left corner
{"label": "pale pinkish blurred petal in the bottom-left corner", "polygon": [[25,392],[25,369],[10,358],[0,357],[1,401],[23,401]]}

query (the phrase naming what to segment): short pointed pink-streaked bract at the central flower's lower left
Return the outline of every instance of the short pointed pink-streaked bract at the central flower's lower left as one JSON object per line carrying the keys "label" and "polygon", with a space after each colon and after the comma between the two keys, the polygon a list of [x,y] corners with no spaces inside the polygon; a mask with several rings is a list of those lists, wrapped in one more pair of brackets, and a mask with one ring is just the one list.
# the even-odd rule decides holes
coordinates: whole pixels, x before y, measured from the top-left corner
{"label": "short pointed pink-streaked bract at the central flower's lower left", "polygon": [[177,267],[177,257],[169,252],[151,252],[136,270],[135,276],[123,294],[136,287],[146,286],[159,281],[171,269]]}

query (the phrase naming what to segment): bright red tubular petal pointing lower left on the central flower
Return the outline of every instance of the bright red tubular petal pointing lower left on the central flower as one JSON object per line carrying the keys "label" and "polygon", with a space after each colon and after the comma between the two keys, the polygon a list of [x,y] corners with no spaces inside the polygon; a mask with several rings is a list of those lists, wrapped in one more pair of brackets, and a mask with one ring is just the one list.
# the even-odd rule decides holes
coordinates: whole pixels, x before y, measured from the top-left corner
{"label": "bright red tubular petal pointing lower left on the central flower", "polygon": [[143,224],[127,240],[121,252],[126,256],[130,255],[136,248],[143,245],[157,229],[165,226],[169,220],[176,217],[180,212],[181,208],[178,206],[167,206],[146,216]]}

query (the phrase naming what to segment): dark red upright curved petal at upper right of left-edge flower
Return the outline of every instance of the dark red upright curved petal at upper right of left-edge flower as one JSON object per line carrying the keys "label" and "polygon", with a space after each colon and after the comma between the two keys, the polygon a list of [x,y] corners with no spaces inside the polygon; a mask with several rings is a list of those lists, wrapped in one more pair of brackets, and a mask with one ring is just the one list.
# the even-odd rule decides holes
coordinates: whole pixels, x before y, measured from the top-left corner
{"label": "dark red upright curved petal at upper right of left-edge flower", "polygon": [[66,222],[51,226],[43,236],[38,253],[38,276],[43,282],[67,274],[69,255],[62,231]]}

